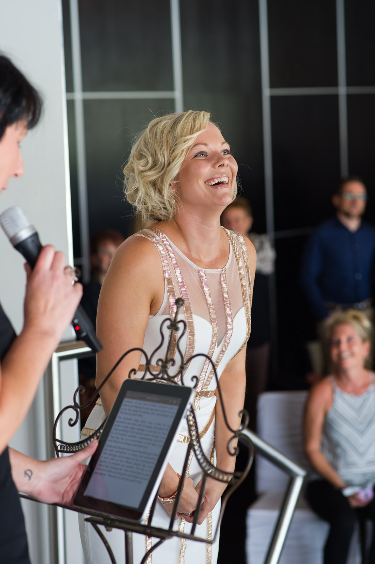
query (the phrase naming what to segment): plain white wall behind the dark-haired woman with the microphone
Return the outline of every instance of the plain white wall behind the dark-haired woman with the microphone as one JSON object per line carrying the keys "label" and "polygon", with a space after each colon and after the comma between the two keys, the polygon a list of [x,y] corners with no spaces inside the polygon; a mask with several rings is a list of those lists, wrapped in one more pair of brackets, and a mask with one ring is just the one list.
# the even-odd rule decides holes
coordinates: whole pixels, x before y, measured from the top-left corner
{"label": "plain white wall behind the dark-haired woman with the microphone", "polygon": [[[0,197],[0,211],[11,205],[21,206],[37,228],[42,243],[52,243],[63,250],[66,263],[73,264],[61,3],[60,0],[0,0],[0,14],[0,51],[20,68],[44,100],[40,124],[21,143],[24,177],[10,181],[8,190]],[[24,259],[2,232],[0,257],[0,299],[19,332],[23,324]],[[72,336],[68,330],[66,338]],[[74,366],[72,374],[75,380]],[[70,394],[69,389],[69,395],[73,396],[73,390]],[[42,385],[11,444],[30,456],[46,457]],[[32,562],[50,564],[53,557],[48,508],[30,501],[25,501],[23,506]],[[80,562],[80,558],[78,553],[75,562]]]}

